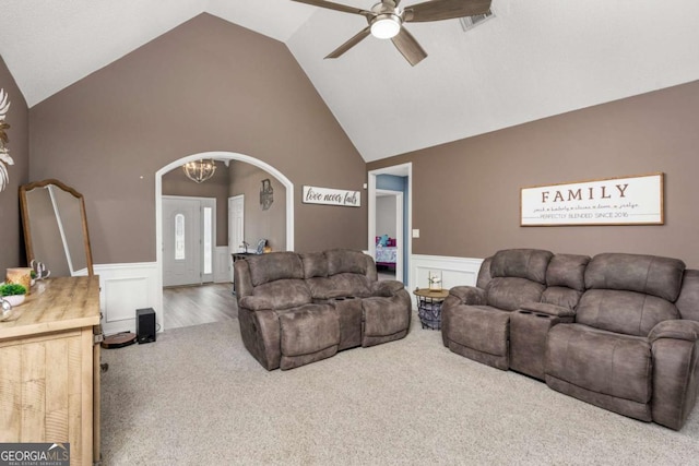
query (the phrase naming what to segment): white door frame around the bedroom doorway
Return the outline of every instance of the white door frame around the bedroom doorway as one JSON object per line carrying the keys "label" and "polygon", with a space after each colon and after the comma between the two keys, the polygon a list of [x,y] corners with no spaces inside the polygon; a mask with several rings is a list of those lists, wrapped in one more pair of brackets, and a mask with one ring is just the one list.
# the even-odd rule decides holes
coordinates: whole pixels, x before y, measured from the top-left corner
{"label": "white door frame around the bedroom doorway", "polygon": [[[369,244],[369,253],[372,258],[376,256],[376,177],[378,175],[395,175],[400,177],[407,178],[407,199],[403,200],[406,202],[405,210],[407,211],[406,218],[403,218],[405,223],[405,229],[407,230],[407,235],[403,238],[403,243],[405,244],[405,258],[406,261],[403,264],[403,268],[407,270],[407,282],[405,283],[405,287],[407,289],[413,289],[412,284],[410,283],[412,274],[410,273],[411,266],[411,258],[413,255],[413,238],[411,232],[413,231],[413,163],[408,162],[406,164],[393,165],[391,167],[379,168],[376,170],[370,170],[367,172],[367,211],[368,211],[368,244]],[[398,268],[398,263],[396,263]],[[396,271],[398,277],[398,271]],[[405,275],[403,275],[405,278]]]}

